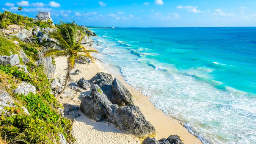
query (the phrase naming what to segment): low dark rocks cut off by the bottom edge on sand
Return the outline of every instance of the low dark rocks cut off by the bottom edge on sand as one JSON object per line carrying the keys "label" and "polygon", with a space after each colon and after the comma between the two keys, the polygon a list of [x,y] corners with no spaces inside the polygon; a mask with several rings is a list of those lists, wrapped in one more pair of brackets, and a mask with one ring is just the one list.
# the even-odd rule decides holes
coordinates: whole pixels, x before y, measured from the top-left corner
{"label": "low dark rocks cut off by the bottom edge on sand", "polygon": [[184,144],[178,135],[170,135],[168,138],[162,138],[159,141],[155,138],[146,138],[142,144]]}

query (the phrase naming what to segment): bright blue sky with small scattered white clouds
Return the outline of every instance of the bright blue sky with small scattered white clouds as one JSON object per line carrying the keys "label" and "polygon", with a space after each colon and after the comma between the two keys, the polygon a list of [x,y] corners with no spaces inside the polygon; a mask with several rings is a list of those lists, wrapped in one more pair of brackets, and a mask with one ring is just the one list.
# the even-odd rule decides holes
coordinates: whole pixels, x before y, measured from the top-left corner
{"label": "bright blue sky with small scattered white clouds", "polygon": [[1,0],[0,11],[94,27],[255,27],[256,0]]}

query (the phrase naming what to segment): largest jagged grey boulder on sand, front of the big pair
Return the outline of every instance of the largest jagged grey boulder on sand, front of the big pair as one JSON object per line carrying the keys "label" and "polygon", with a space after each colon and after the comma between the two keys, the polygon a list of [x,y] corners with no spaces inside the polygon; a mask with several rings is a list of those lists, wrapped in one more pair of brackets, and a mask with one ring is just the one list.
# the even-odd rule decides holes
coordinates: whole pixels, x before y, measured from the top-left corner
{"label": "largest jagged grey boulder on sand, front of the big pair", "polygon": [[98,85],[93,85],[91,95],[82,97],[80,111],[95,121],[107,119],[121,131],[137,137],[155,133],[155,128],[146,121],[138,106],[113,104]]}

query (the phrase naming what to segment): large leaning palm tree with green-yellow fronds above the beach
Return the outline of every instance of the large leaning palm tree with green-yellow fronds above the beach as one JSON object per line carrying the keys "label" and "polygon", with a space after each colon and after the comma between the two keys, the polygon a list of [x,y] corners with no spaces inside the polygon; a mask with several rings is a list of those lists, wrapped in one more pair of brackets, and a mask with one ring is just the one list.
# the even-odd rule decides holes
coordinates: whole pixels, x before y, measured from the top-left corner
{"label": "large leaning palm tree with green-yellow fronds above the beach", "polygon": [[78,29],[75,23],[61,23],[57,26],[57,30],[50,33],[49,37],[55,41],[44,42],[45,46],[49,46],[52,50],[45,53],[44,56],[67,56],[68,66],[66,69],[66,80],[65,85],[61,93],[56,97],[57,99],[63,94],[64,90],[68,85],[71,70],[75,67],[76,59],[84,59],[85,57],[90,58],[93,62],[94,60],[99,60],[90,55],[91,52],[97,52],[96,50],[86,50],[80,42],[82,41],[84,35],[82,31]]}

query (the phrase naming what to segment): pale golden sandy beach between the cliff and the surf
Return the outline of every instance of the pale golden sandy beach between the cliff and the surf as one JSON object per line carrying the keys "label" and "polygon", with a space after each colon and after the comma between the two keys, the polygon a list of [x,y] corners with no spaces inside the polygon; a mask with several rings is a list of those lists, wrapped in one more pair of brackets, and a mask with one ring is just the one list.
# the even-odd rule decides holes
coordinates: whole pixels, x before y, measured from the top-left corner
{"label": "pale golden sandy beach between the cliff and the surf", "polygon": [[[86,48],[93,49],[92,47],[88,46],[86,46]],[[58,57],[55,58],[55,61],[57,72],[52,75],[52,77],[64,76],[65,67],[67,65],[66,58]],[[201,141],[189,133],[189,131],[183,127],[181,122],[167,117],[161,110],[155,108],[154,104],[150,102],[148,97],[144,96],[141,94],[141,92],[128,85],[118,70],[99,61],[96,61],[93,64],[76,64],[76,67],[72,72],[74,72],[76,69],[82,70],[82,74],[71,74],[71,80],[73,81],[77,81],[82,77],[89,80],[96,75],[97,72],[110,73],[112,74],[113,78],[118,78],[133,95],[135,105],[140,108],[141,112],[146,117],[146,120],[155,127],[157,131],[155,138],[161,139],[167,138],[170,135],[179,135],[182,142],[185,144],[201,144]],[[71,89],[68,90],[72,91]],[[81,94],[88,95],[90,94],[90,91],[80,93],[74,91],[74,97],[60,99],[59,101],[62,104],[69,103],[80,106],[79,97]],[[79,113],[81,112],[79,111]],[[78,144],[140,144],[143,141],[143,139],[123,133],[121,130],[108,122],[94,122],[91,119],[88,119],[82,113],[80,117],[74,119],[73,134],[77,139]]]}

